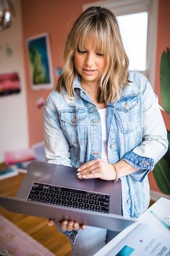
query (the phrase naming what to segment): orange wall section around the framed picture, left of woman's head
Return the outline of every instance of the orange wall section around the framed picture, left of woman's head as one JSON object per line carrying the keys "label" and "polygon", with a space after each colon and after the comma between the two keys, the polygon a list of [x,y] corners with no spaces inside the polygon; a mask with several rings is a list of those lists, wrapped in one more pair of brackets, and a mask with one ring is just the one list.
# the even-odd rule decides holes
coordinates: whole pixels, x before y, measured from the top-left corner
{"label": "orange wall section around the framed picture, left of woman's head", "polygon": [[31,89],[25,41],[30,36],[48,32],[52,52],[54,87],[56,67],[62,65],[62,49],[73,20],[82,12],[82,5],[90,0],[22,0],[25,77],[29,123],[29,145],[43,141],[43,108],[36,108],[39,97],[46,99],[51,90]]}

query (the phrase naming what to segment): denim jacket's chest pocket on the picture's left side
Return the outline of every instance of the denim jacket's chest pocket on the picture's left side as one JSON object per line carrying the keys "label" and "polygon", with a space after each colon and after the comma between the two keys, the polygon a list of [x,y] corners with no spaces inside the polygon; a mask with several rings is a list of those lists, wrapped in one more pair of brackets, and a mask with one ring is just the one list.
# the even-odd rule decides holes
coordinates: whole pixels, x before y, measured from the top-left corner
{"label": "denim jacket's chest pocket on the picture's left side", "polygon": [[87,137],[87,113],[83,110],[60,111],[62,131],[71,144],[84,143]]}

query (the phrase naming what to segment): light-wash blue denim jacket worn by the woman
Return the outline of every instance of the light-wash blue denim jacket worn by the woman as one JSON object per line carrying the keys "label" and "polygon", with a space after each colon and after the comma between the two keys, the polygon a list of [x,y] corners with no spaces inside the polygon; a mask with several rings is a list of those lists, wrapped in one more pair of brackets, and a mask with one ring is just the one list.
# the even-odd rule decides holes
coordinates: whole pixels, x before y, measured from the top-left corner
{"label": "light-wash blue denim jacket worn by the woman", "polygon": [[[119,99],[107,104],[108,161],[124,159],[138,171],[121,177],[122,213],[137,218],[148,207],[148,172],[167,151],[167,132],[157,95],[145,76],[129,71]],[[50,93],[45,103],[45,151],[48,163],[78,168],[101,158],[102,129],[97,106],[74,81],[76,97]],[[75,173],[76,175],[76,173]],[[68,233],[68,232],[67,232]],[[76,232],[69,232],[73,236]]]}

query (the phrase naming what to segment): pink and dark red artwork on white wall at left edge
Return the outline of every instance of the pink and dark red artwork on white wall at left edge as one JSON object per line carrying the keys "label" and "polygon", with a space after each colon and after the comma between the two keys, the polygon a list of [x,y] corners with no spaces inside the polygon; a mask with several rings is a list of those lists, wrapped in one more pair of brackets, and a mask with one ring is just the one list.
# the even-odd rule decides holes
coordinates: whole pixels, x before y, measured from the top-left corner
{"label": "pink and dark red artwork on white wall at left edge", "polygon": [[0,97],[20,93],[20,78],[17,72],[0,74]]}

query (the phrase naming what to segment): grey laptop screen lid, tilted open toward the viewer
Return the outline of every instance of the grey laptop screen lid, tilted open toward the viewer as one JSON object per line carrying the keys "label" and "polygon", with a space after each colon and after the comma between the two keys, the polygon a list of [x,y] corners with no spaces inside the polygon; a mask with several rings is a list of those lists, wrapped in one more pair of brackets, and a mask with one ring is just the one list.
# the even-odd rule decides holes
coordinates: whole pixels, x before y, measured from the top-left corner
{"label": "grey laptop screen lid, tilted open toward the viewer", "polygon": [[0,204],[8,211],[49,218],[52,220],[73,220],[80,224],[92,227],[107,228],[109,230],[122,231],[134,220],[124,218],[117,214],[104,212],[94,212],[81,209],[71,209],[56,205],[29,202],[23,198],[13,198],[10,196],[0,196]]}

